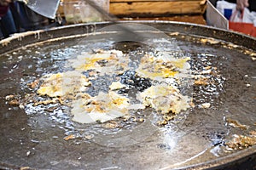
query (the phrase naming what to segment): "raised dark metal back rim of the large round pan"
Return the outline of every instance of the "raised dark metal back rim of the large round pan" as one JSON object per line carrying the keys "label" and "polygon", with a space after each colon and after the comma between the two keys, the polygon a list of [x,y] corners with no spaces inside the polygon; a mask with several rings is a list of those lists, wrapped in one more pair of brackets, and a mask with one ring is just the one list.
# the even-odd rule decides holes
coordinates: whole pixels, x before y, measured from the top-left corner
{"label": "raised dark metal back rim of the large round pan", "polygon": [[[236,45],[243,46],[256,50],[256,38],[249,37],[247,35],[235,32],[227,31],[223,29],[214,28],[211,26],[201,26],[190,23],[164,21],[164,20],[134,20],[134,21],[119,21],[119,23],[137,23],[147,26],[152,26],[160,31],[168,32],[180,32],[186,35],[195,35],[200,37],[212,37],[225,42],[232,42]],[[18,36],[9,37],[0,41],[0,54],[14,50],[16,48],[24,47],[28,44],[36,42],[44,42],[53,38],[68,37],[80,34],[91,33],[93,31],[99,31],[105,26],[112,25],[111,22],[99,22],[88,24],[77,24],[70,26],[60,26],[42,31],[31,31],[31,34],[27,32],[16,34]]]}

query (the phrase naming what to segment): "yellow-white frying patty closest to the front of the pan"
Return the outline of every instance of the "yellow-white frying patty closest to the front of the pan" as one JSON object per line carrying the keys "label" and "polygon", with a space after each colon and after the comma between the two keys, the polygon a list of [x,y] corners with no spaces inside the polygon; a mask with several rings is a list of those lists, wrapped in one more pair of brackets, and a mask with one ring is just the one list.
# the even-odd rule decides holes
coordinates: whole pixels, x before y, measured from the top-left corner
{"label": "yellow-white frying patty closest to the front of the pan", "polygon": [[80,123],[107,122],[128,114],[130,100],[113,91],[96,97],[73,100],[73,121]]}

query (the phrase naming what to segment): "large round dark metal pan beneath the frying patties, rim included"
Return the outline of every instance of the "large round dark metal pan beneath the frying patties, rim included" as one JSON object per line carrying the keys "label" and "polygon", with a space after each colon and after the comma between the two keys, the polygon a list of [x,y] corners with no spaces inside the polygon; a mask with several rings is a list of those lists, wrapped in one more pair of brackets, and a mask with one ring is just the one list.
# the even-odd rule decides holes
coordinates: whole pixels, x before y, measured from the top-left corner
{"label": "large round dark metal pan beneath the frying patties, rim included", "polygon": [[[139,25],[135,31],[149,32],[154,38],[165,33],[172,42],[170,47],[188,55],[194,69],[201,68],[203,63],[216,67],[221,76],[218,91],[207,94],[204,93],[206,89],[192,85],[195,107],[183,114],[178,122],[170,122],[167,126],[156,125],[154,119],[157,115],[150,111],[140,113],[144,122],[130,122],[114,129],[105,129],[100,123],[72,122],[65,110],[55,113],[24,111],[18,105],[10,105],[6,96],[14,94],[16,99],[22,99],[30,92],[27,82],[46,73],[63,71],[67,60],[84,50],[116,48],[132,54],[150,50],[150,47],[127,39],[125,42],[113,42],[122,26],[112,27],[109,31],[112,25],[108,22],[15,35],[0,42],[0,167],[255,168],[256,145],[227,149],[227,143],[232,139],[239,135],[253,138],[252,132],[256,130],[255,39],[233,31],[186,23],[120,23]],[[211,106],[200,107],[205,102]],[[71,133],[81,136],[63,139]]]}

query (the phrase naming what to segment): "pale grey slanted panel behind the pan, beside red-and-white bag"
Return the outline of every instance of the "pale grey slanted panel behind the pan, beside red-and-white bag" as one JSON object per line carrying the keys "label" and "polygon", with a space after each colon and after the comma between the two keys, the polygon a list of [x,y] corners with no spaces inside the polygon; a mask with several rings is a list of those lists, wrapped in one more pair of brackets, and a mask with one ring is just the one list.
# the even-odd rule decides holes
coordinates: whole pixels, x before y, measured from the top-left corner
{"label": "pale grey slanted panel behind the pan, beside red-and-white bag", "polygon": [[229,20],[227,20],[209,0],[207,0],[207,25],[226,30],[229,29]]}

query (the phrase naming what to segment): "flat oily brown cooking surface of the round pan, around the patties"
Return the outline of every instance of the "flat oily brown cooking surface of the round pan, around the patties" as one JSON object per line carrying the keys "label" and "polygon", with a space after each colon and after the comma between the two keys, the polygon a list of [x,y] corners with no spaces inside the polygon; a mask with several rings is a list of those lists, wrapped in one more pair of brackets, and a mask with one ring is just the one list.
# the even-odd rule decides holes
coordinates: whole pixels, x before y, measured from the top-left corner
{"label": "flat oily brown cooking surface of the round pan, around the patties", "polygon": [[[37,169],[170,169],[183,167],[214,167],[255,155],[255,146],[243,150],[224,151],[224,141],[233,134],[248,134],[256,128],[256,67],[242,47],[224,48],[223,43],[205,44],[198,37],[172,36],[172,48],[191,57],[192,68],[200,67],[201,59],[218,67],[224,77],[217,94],[207,94],[194,87],[195,108],[181,122],[166,127],[156,126],[154,111],[142,111],[143,123],[123,128],[105,129],[101,124],[81,125],[70,121],[63,110],[49,114],[44,111],[26,113],[7,105],[5,96],[31,92],[26,82],[50,72],[64,71],[63,65],[90,48],[115,48],[125,53],[147,51],[137,42],[113,43],[110,35],[70,38],[45,42],[29,48],[2,54],[0,161],[2,167]],[[85,39],[84,39],[85,38]],[[85,41],[86,40],[86,41]],[[121,44],[121,45],[120,45]],[[206,61],[205,60],[205,61]],[[247,87],[250,84],[250,87]],[[98,84],[101,86],[101,84]],[[209,102],[209,109],[197,107]],[[227,125],[231,118],[247,125],[241,130]],[[92,139],[65,141],[69,133],[93,134]],[[255,156],[254,156],[255,157]]]}

